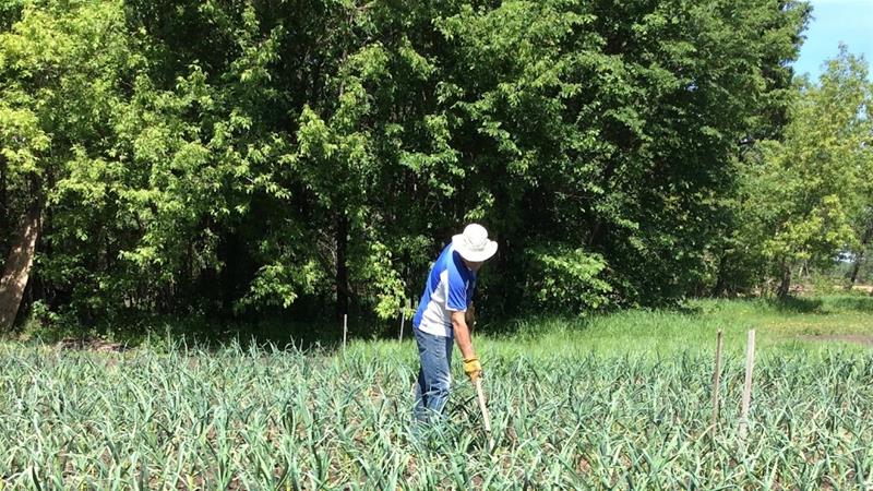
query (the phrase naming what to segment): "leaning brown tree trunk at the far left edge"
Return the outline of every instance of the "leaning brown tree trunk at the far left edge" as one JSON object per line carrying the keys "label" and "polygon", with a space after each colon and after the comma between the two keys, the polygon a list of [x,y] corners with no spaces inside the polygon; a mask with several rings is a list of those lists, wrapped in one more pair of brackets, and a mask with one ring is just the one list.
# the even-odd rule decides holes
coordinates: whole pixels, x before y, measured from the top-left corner
{"label": "leaning brown tree trunk at the far left edge", "polygon": [[0,277],[0,332],[10,331],[27,286],[34,263],[36,240],[39,237],[39,205],[34,205],[24,216],[15,233],[9,256]]}

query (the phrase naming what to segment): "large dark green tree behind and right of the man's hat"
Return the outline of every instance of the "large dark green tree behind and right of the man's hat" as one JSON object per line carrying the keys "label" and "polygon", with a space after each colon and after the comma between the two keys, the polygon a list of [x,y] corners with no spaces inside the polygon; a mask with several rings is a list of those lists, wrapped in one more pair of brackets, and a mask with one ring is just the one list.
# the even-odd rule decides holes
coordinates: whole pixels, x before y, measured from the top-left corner
{"label": "large dark green tree behind and right of the man's hat", "polygon": [[808,12],[503,2],[446,19],[462,199],[509,239],[504,294],[560,291],[566,309],[692,292],[728,223],[733,156],[779,125]]}

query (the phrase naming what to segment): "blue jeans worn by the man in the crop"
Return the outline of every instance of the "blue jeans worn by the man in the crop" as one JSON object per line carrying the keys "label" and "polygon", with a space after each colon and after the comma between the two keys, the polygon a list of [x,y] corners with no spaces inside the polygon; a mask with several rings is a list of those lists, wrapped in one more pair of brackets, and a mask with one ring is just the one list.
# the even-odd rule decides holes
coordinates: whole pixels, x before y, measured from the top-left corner
{"label": "blue jeans worn by the man in the crop", "polygon": [[416,385],[416,420],[427,422],[442,415],[452,386],[452,338],[422,333],[414,327],[421,370]]}

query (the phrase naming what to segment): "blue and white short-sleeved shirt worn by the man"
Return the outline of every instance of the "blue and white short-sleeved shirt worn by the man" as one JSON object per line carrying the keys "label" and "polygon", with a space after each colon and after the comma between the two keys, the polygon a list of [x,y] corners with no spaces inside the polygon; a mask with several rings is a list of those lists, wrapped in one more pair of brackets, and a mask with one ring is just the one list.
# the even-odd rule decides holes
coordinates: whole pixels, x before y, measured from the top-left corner
{"label": "blue and white short-sleeved shirt worn by the man", "polygon": [[452,312],[467,311],[475,288],[476,273],[450,242],[430,268],[412,325],[428,334],[452,337]]}

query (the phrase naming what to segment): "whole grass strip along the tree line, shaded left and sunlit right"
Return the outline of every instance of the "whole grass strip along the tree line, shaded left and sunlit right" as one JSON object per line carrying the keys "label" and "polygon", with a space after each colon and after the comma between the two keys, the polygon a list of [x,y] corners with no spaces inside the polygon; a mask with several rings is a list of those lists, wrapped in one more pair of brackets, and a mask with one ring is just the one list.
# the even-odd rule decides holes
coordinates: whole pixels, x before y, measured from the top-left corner
{"label": "whole grass strip along the tree line, shaded left and sunlit right", "polygon": [[[626,310],[584,319],[550,318],[531,315],[509,323],[491,323],[486,315],[480,318],[482,334],[478,345],[501,352],[538,355],[576,355],[596,352],[603,356],[669,356],[681,350],[710,352],[716,332],[725,331],[728,350],[744,349],[745,333],[756,331],[761,349],[827,348],[839,340],[823,344],[811,336],[873,337],[873,297],[866,295],[829,295],[791,298],[787,301],[763,299],[744,300],[690,300],[681,309]],[[360,342],[358,333],[368,334],[368,346],[379,346],[382,351],[397,349],[393,343],[398,327],[396,320],[373,328],[360,325],[361,321],[349,321],[350,338]],[[271,319],[256,325],[208,324],[203,319],[137,320],[130,326],[88,330],[81,327],[55,332],[51,327],[33,323],[24,330],[20,339],[45,339],[55,343],[63,337],[99,336],[127,346],[144,344],[163,350],[166,345],[182,337],[190,343],[218,345],[237,337],[243,345],[254,340],[262,345],[294,344],[310,348],[336,349],[342,343],[342,330],[333,324],[303,324],[299,321]],[[410,325],[406,323],[405,337],[410,340]],[[216,343],[217,342],[217,343]],[[858,343],[842,343],[846,349],[863,350]],[[403,351],[412,348],[399,348]]]}

